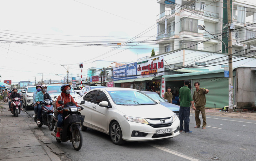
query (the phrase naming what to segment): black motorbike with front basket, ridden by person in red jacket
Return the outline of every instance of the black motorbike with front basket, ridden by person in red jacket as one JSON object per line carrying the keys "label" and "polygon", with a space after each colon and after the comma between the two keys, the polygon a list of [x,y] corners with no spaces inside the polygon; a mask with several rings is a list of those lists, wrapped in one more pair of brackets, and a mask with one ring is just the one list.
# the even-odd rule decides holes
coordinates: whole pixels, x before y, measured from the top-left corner
{"label": "black motorbike with front basket, ridden by person in red jacket", "polygon": [[[63,104],[63,101],[58,101],[59,104]],[[85,103],[82,101],[81,104]],[[85,116],[79,115],[78,111],[83,108],[76,107],[75,103],[69,102],[62,108],[63,111],[63,124],[60,129],[60,137],[56,137],[58,118],[54,117],[55,130],[51,132],[51,135],[56,138],[57,142],[67,142],[70,140],[76,151],[79,151],[83,144],[83,136],[80,124],[83,123]]]}

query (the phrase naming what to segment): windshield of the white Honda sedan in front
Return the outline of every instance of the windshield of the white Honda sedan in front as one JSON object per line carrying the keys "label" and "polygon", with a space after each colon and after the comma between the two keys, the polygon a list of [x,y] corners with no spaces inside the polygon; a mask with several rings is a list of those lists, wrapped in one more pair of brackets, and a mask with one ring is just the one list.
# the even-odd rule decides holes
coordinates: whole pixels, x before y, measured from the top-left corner
{"label": "windshield of the white Honda sedan in front", "polygon": [[109,91],[109,95],[118,105],[151,105],[157,104],[145,94],[134,90]]}

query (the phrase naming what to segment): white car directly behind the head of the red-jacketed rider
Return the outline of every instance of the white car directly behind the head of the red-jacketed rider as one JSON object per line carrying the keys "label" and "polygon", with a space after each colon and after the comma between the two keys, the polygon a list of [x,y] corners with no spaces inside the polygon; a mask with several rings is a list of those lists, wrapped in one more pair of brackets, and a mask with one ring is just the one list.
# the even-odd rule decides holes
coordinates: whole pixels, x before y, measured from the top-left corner
{"label": "white car directly behind the head of the red-jacketed rider", "polygon": [[[59,96],[61,94],[61,90],[60,87],[62,85],[48,85],[47,87],[47,93],[50,95],[50,97],[52,97],[52,99],[54,100],[54,96]],[[76,101],[76,99],[80,98],[79,94],[77,94],[74,90],[74,88],[72,86],[70,86],[71,88],[71,92],[70,95],[74,98],[74,101]]]}

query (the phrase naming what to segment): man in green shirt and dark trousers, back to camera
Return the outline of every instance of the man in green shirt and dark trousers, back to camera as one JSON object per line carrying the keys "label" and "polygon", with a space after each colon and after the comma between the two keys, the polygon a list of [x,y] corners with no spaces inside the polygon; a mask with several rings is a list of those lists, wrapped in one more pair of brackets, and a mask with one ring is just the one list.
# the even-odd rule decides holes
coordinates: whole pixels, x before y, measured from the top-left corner
{"label": "man in green shirt and dark trousers, back to camera", "polygon": [[[190,103],[192,104],[192,108],[195,110],[195,106],[193,104],[191,91],[188,88],[190,84],[189,80],[184,80],[184,87],[181,87],[179,90],[179,98],[180,98],[180,132],[185,131],[185,133],[192,133],[189,131],[189,112],[190,112]],[[184,129],[183,129],[183,120],[184,120]]]}

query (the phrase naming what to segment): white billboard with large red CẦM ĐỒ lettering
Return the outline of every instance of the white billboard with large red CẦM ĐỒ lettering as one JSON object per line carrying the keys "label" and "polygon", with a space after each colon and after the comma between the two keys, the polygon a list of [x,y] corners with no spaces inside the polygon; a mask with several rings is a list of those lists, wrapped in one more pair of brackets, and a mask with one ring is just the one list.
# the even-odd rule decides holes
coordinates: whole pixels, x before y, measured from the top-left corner
{"label": "white billboard with large red C\u1ea6M \u0110\u1ed2 lettering", "polygon": [[158,57],[137,63],[138,78],[164,75],[164,59]]}

